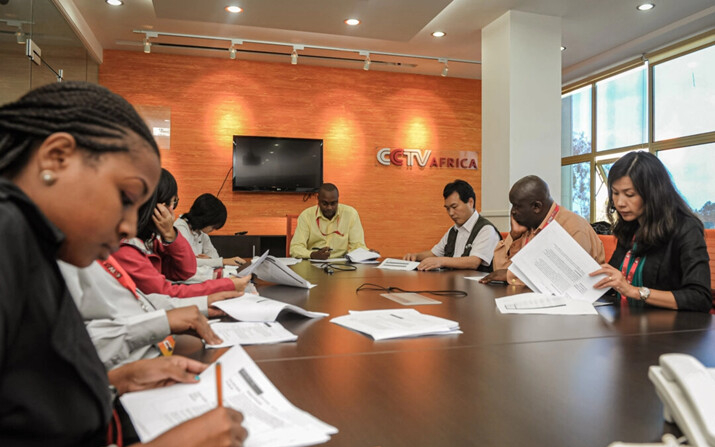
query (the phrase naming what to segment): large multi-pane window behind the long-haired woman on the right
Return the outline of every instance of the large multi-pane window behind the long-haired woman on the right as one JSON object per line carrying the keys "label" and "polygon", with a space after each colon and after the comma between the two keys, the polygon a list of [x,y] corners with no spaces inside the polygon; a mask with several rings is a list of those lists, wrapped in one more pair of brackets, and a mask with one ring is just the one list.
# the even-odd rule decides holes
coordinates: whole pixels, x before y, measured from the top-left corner
{"label": "large multi-pane window behind the long-haired woman on the right", "polygon": [[652,58],[565,89],[561,203],[591,222],[607,220],[611,166],[630,151],[647,150],[706,228],[715,228],[715,33]]}

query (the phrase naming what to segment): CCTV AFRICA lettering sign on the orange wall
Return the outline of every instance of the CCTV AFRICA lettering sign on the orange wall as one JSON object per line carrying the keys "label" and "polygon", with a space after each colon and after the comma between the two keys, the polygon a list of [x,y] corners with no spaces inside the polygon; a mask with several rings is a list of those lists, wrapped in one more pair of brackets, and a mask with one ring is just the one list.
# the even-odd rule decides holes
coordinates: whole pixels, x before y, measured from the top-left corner
{"label": "CCTV AFRICA lettering sign on the orange wall", "polygon": [[[451,157],[432,155],[430,149],[400,149],[383,147],[377,151],[377,162],[384,166],[419,166],[421,168],[478,169],[477,153],[459,151]],[[456,154],[456,156],[454,156]],[[446,154],[445,154],[446,155]]]}

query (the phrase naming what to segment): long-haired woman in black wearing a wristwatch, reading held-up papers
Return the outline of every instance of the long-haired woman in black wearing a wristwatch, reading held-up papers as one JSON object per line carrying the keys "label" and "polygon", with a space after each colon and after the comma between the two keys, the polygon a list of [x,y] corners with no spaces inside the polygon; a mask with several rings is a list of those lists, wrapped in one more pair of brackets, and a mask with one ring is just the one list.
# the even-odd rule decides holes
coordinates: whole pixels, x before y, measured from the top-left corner
{"label": "long-haired woman in black wearing a wristwatch, reading held-up papers", "polygon": [[596,288],[629,303],[709,312],[710,266],[702,222],[648,152],[624,155],[608,173],[613,234],[618,240]]}

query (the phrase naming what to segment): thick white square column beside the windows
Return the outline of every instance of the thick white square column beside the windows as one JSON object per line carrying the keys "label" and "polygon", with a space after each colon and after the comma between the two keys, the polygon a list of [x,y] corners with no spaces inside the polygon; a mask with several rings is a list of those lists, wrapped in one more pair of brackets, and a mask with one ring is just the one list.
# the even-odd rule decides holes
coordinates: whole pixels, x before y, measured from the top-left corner
{"label": "thick white square column beside the windows", "polygon": [[482,29],[482,214],[509,228],[509,188],[561,191],[561,19],[509,11]]}

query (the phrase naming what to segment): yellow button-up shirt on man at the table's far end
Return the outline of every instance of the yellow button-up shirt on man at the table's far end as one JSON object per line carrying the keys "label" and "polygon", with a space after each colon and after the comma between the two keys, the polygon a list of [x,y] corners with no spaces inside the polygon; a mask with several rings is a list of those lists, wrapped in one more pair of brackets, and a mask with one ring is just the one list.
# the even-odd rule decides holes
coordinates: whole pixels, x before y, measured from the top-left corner
{"label": "yellow button-up shirt on man at the table's far end", "polygon": [[340,203],[332,219],[323,216],[318,205],[300,213],[290,242],[290,255],[308,259],[314,248],[323,247],[333,249],[331,258],[342,258],[356,248],[367,248],[360,216],[355,208]]}

